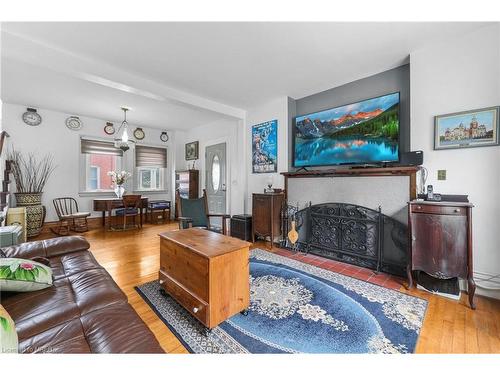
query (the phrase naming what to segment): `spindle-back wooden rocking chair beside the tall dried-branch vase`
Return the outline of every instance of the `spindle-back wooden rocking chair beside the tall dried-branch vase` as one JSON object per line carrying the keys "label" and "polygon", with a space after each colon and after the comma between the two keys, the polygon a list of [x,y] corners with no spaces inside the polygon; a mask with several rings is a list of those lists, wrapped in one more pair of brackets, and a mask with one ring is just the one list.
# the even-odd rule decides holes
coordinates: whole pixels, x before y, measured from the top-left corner
{"label": "spindle-back wooden rocking chair beside the tall dried-branch vase", "polygon": [[59,226],[51,228],[52,232],[65,236],[70,231],[86,232],[89,230],[87,217],[90,216],[90,212],[80,212],[75,198],[56,198],[52,200],[52,203],[59,218]]}

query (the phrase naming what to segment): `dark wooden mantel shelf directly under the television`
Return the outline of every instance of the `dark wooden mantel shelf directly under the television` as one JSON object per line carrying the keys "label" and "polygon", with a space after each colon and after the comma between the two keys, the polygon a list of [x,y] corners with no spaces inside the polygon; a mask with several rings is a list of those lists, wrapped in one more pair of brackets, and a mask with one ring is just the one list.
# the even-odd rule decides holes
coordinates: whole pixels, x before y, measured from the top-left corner
{"label": "dark wooden mantel shelf directly under the television", "polygon": [[283,176],[294,177],[346,177],[346,176],[409,176],[417,173],[420,167],[367,167],[367,168],[337,168],[337,169],[318,169],[300,172],[283,172]]}

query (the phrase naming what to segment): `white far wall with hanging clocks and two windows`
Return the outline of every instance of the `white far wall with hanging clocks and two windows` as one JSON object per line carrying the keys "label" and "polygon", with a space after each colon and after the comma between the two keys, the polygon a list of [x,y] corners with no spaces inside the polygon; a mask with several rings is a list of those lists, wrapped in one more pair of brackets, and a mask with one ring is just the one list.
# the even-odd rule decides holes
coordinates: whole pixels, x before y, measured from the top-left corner
{"label": "white far wall with hanging clocks and two windows", "polygon": [[[26,105],[15,105],[4,103],[3,105],[3,125],[4,130],[10,134],[9,145],[15,147],[19,151],[25,153],[34,152],[40,156],[50,153],[54,156],[54,162],[57,165],[56,170],[47,182],[44,190],[42,203],[47,208],[46,221],[57,220],[52,199],[57,197],[74,197],[82,211],[92,210],[92,196],[79,195],[79,157],[80,157],[80,136],[101,137],[103,139],[113,139],[114,136],[108,136],[104,133],[103,127],[105,120],[83,117],[83,128],[80,131],[69,130],[65,125],[66,118],[70,115],[56,111],[38,109],[38,113],[42,116],[42,123],[39,126],[28,126],[22,121],[22,114],[26,111]],[[115,127],[117,127],[115,123]],[[146,137],[140,144],[158,145],[168,147],[168,164],[167,170],[168,187],[167,193],[141,193],[154,199],[171,199],[171,181],[172,181],[172,165],[175,165],[175,153],[173,144],[175,142],[175,133],[169,132],[170,139],[168,142],[160,140],[161,130],[150,129],[142,126]],[[129,131],[135,129],[134,124],[130,124]],[[131,148],[124,154],[122,164],[125,170],[133,171],[134,152]],[[130,181],[127,186],[127,191],[133,189],[133,181]],[[15,184],[11,184],[11,189],[15,191]],[[113,196],[112,193],[107,196]],[[100,213],[93,212],[92,216],[99,216]]]}

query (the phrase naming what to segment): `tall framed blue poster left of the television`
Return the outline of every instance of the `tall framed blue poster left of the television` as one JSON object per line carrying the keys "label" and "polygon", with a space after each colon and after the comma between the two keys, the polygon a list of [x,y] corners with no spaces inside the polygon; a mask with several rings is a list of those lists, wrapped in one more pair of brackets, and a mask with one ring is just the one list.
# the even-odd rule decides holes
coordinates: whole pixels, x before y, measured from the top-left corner
{"label": "tall framed blue poster left of the television", "polygon": [[252,173],[278,171],[278,120],[252,126]]}

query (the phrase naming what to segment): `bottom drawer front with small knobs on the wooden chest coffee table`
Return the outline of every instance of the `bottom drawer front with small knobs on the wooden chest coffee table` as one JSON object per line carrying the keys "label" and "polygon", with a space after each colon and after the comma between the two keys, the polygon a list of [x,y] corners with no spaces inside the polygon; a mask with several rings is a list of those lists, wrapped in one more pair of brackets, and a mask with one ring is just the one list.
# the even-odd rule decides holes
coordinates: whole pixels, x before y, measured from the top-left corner
{"label": "bottom drawer front with small knobs on the wooden chest coffee table", "polygon": [[182,285],[178,284],[162,271],[160,271],[159,277],[160,285],[172,298],[200,322],[204,325],[208,325],[209,309],[206,302],[191,294]]}

